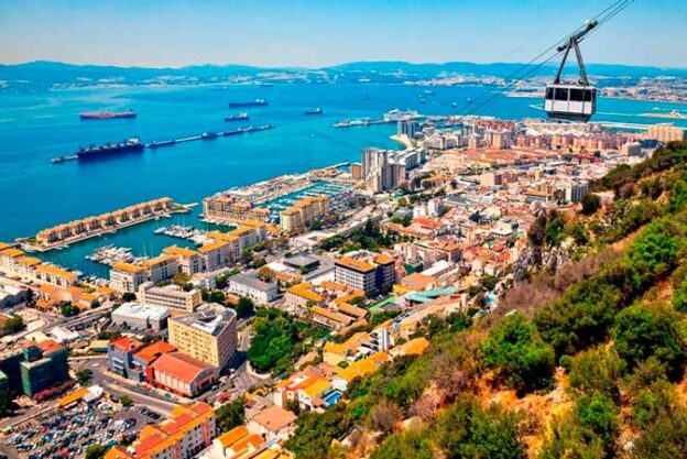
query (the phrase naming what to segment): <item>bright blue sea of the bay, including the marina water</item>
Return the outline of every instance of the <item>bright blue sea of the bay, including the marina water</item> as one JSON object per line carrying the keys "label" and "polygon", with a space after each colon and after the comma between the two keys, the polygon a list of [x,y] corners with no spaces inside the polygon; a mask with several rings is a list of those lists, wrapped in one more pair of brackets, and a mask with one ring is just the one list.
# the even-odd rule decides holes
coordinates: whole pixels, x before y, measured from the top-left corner
{"label": "bright blue sea of the bay, including the marina water", "polygon": [[[63,89],[35,94],[0,94],[0,241],[31,236],[61,222],[168,196],[177,203],[199,203],[205,196],[276,175],[304,172],[345,161],[360,161],[366,146],[396,147],[390,124],[337,129],[342,119],[379,118],[393,108],[425,114],[451,114],[489,88],[439,87],[435,95],[401,85],[299,85],[273,87],[112,87]],[[363,98],[368,95],[369,98]],[[262,108],[228,109],[229,101],[264,98]],[[500,98],[480,114],[504,119],[543,117],[542,101]],[[304,110],[321,107],[321,116]],[[137,111],[135,119],[81,121],[83,111]],[[640,118],[654,109],[685,110],[686,106],[651,101],[600,99],[595,120],[653,123]],[[223,122],[223,117],[248,111],[250,120]],[[72,155],[79,146],[121,141],[134,135],[143,142],[223,131],[239,125],[275,124],[249,135],[187,142],[146,149],[103,161],[52,164],[54,156]],[[677,122],[687,125],[684,120]],[[197,211],[153,220],[102,238],[41,256],[86,274],[107,276],[107,267],[84,259],[106,244],[131,247],[137,255],[155,255],[179,239],[153,234],[172,222],[201,227]]]}

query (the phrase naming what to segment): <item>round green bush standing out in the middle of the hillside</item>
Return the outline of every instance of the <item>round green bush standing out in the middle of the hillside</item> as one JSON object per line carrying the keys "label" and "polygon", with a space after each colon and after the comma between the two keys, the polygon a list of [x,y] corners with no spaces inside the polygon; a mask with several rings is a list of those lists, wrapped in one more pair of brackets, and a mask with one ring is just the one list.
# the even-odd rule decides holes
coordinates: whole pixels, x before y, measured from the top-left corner
{"label": "round green bush standing out in the middle of the hillside", "polygon": [[494,326],[480,349],[487,367],[509,386],[531,391],[552,385],[554,350],[522,314]]}

